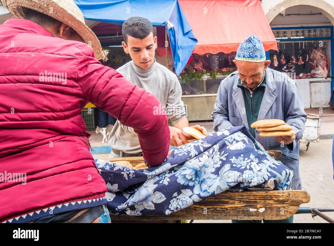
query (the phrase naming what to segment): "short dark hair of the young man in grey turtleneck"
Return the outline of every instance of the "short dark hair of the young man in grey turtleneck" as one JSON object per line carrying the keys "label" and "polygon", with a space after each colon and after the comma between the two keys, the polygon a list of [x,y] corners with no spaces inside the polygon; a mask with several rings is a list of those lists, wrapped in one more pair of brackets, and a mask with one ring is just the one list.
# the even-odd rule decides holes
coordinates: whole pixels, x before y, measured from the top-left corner
{"label": "short dark hair of the young man in grey turtleneck", "polygon": [[151,21],[140,16],[130,17],[122,25],[122,35],[126,44],[128,43],[128,35],[144,39],[151,32],[153,36],[156,36]]}

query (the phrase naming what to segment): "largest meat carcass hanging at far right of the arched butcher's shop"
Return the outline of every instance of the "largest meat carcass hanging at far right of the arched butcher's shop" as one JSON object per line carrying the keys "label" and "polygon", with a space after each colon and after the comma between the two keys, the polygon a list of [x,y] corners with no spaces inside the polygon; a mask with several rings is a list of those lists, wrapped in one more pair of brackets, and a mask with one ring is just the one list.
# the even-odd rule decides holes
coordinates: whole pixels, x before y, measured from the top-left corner
{"label": "largest meat carcass hanging at far right of the arched butcher's shop", "polygon": [[330,67],[330,61],[325,55],[322,47],[313,50],[311,57],[311,75],[318,78],[327,78]]}

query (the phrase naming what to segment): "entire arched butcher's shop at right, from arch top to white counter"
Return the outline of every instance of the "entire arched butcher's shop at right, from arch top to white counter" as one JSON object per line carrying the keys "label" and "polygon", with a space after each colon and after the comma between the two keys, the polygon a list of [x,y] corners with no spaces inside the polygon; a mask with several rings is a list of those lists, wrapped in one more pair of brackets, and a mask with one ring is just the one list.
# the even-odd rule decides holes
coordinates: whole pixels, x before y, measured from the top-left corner
{"label": "entire arched butcher's shop at right, from arch top to white counter", "polygon": [[281,8],[276,13],[277,8],[272,7],[266,14],[278,41],[277,50],[270,51],[270,68],[287,73],[295,80],[304,108],[328,107],[333,90],[332,21],[319,6]]}

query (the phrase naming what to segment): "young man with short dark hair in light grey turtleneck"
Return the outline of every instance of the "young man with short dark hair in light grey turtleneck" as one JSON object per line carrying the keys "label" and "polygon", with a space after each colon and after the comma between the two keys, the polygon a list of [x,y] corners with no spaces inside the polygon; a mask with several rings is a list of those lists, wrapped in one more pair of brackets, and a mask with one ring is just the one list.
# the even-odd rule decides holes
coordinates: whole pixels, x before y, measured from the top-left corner
{"label": "young man with short dark hair in light grey turtleneck", "polygon": [[[157,37],[151,22],[143,17],[130,17],[123,23],[122,34],[124,52],[130,55],[132,61],[116,71],[159,99],[161,108],[154,109],[154,112],[160,114],[165,111],[172,121],[173,127],[169,127],[170,145],[188,143],[193,137],[182,132],[184,127],[189,127],[189,122],[181,100],[181,85],[174,73],[155,61]],[[193,128],[207,135],[205,128],[199,125]],[[133,128],[124,126],[119,121],[116,121],[112,129],[109,144],[112,146],[109,158],[142,155],[139,139]]]}

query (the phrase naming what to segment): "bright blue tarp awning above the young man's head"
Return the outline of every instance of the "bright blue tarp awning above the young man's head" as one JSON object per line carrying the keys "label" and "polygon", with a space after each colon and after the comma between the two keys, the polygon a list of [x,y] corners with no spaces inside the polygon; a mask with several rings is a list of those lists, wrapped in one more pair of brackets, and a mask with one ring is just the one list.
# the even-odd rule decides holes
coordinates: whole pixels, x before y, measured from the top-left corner
{"label": "bright blue tarp awning above the young man's head", "polygon": [[85,19],[122,25],[132,16],[166,26],[176,75],[187,64],[197,39],[177,0],[74,0]]}

